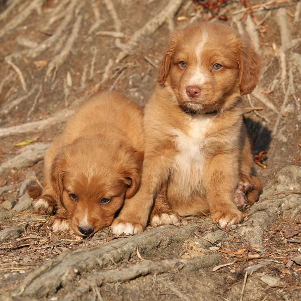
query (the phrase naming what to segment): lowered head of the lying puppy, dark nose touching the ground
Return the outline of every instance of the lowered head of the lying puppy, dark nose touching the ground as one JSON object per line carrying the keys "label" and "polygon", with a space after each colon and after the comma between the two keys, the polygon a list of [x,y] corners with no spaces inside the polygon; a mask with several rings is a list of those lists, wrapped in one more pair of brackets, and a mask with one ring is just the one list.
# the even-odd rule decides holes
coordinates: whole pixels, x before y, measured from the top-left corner
{"label": "lowered head of the lying puppy, dark nose touching the ground", "polygon": [[130,145],[81,138],[53,163],[53,187],[72,230],[85,236],[109,226],[138,189],[143,154]]}

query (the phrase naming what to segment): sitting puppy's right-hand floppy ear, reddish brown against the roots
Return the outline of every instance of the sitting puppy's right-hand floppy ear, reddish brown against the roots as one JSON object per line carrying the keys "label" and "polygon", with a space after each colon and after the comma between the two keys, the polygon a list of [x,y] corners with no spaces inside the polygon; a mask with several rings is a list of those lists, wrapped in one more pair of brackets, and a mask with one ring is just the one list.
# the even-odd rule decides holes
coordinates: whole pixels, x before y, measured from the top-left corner
{"label": "sitting puppy's right-hand floppy ear, reddish brown against the roots", "polygon": [[261,58],[246,38],[241,38],[241,55],[239,65],[239,90],[241,95],[251,93],[256,87],[260,71]]}

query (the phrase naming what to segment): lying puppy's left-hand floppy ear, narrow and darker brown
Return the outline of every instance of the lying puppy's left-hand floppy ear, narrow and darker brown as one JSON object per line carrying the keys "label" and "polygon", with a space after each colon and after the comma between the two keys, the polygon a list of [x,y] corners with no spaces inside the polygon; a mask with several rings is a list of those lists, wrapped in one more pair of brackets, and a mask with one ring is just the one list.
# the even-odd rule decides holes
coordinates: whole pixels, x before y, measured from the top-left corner
{"label": "lying puppy's left-hand floppy ear, narrow and darker brown", "polygon": [[63,162],[64,157],[62,154],[58,155],[51,165],[51,182],[53,190],[56,194],[57,199],[62,202],[63,200],[63,177],[64,177],[64,171],[63,171]]}

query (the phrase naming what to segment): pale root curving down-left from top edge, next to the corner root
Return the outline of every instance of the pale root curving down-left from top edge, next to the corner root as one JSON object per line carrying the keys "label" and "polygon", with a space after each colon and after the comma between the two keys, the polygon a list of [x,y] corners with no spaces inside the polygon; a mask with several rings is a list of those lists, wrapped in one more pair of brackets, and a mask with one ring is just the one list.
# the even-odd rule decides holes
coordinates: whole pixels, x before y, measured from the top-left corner
{"label": "pale root curving down-left from top edge, next to the corner root", "polygon": [[71,0],[66,12],[64,12],[65,19],[58,26],[55,33],[50,38],[42,42],[37,48],[30,50],[27,54],[28,57],[35,58],[39,56],[41,53],[49,49],[61,37],[63,31],[66,30],[68,24],[73,18],[73,11],[78,2],[79,0]]}

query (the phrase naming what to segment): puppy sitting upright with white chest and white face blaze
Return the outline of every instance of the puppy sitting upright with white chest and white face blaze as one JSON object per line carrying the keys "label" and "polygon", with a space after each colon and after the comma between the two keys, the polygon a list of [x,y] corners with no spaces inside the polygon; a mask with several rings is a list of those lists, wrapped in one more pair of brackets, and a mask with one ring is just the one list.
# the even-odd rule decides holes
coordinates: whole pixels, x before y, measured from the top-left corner
{"label": "puppy sitting upright with white chest and white face blaze", "polygon": [[255,88],[260,67],[249,41],[228,26],[175,33],[144,110],[141,187],[112,223],[115,234],[143,231],[151,210],[156,225],[177,224],[177,214],[210,213],[221,226],[242,220],[242,191],[252,204],[261,185],[251,174],[241,95]]}

